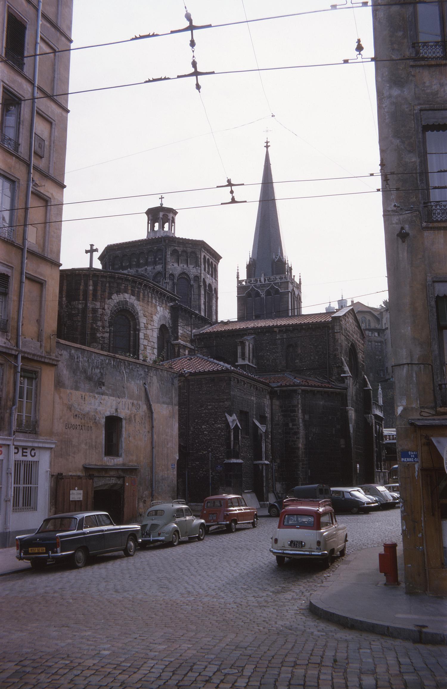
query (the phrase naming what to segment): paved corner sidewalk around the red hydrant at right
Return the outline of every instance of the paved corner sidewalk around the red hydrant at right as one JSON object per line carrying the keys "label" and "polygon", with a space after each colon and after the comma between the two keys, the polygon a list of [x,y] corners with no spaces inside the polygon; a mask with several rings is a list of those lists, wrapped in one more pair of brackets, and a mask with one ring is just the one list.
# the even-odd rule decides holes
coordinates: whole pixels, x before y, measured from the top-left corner
{"label": "paved corner sidewalk around the red hydrant at right", "polygon": [[[346,555],[328,582],[311,596],[311,613],[348,628],[418,644],[447,645],[447,599],[407,595],[403,583],[385,586],[385,576],[379,572],[382,551],[380,546]],[[397,564],[403,582],[402,546],[397,548]]]}

